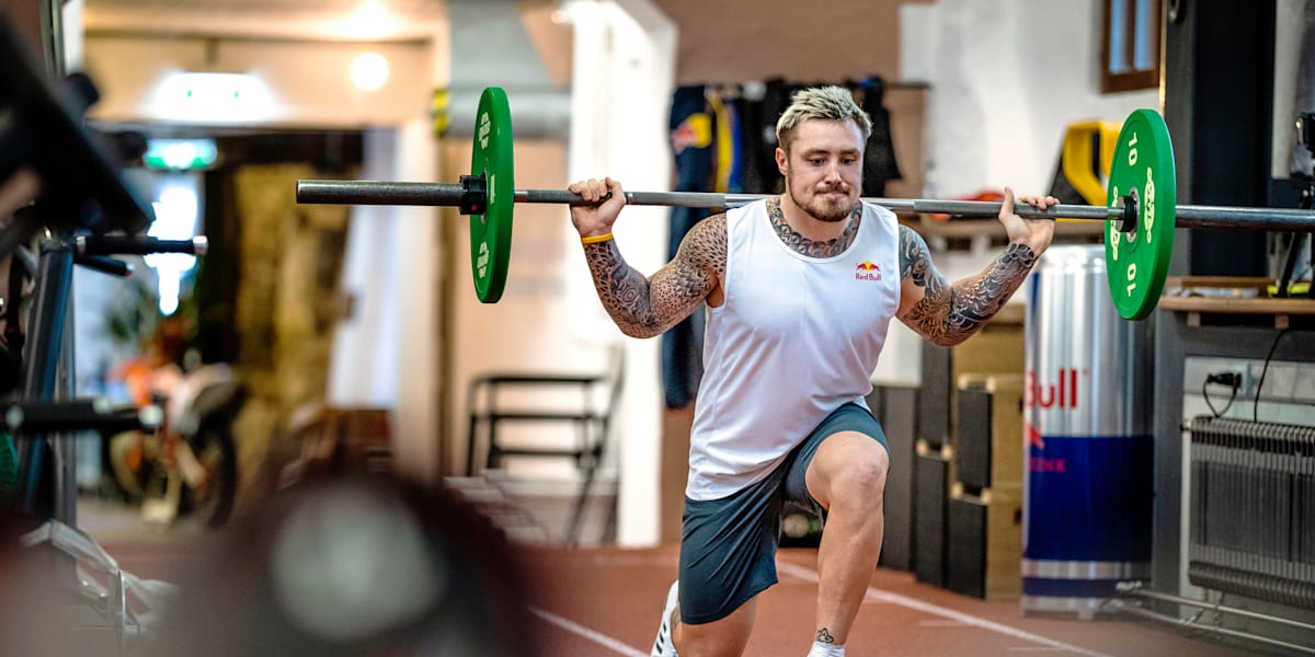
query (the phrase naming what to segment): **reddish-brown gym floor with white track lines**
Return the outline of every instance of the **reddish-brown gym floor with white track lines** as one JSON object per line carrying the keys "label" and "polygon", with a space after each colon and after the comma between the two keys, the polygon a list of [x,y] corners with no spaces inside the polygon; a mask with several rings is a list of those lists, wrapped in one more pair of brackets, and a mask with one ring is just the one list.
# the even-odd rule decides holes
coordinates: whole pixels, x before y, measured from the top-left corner
{"label": "reddish-brown gym floor with white track lines", "polygon": [[[79,522],[125,570],[168,578],[185,572],[217,541],[205,530],[180,524],[145,526],[114,505],[83,502]],[[533,573],[525,586],[531,631],[546,656],[646,656],[663,598],[676,572],[677,549],[526,548]],[[759,600],[746,654],[798,657],[813,633],[817,552],[785,548],[777,558],[780,583]],[[1166,624],[1102,618],[1022,616],[1016,602],[988,602],[914,581],[910,573],[878,569],[849,639],[848,654],[1009,656],[1084,654],[1224,657],[1268,654],[1252,646]]]}

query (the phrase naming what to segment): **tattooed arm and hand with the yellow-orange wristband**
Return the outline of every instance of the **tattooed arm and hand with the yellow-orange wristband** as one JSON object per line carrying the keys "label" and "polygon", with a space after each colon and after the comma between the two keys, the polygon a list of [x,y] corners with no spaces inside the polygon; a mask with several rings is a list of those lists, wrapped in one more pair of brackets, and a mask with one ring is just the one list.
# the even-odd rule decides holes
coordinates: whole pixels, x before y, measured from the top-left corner
{"label": "tattooed arm and hand with the yellow-orange wristband", "polygon": [[[571,191],[588,200],[611,193],[597,208],[571,209],[583,238],[610,234],[625,205],[621,185],[610,179],[590,180],[571,185]],[[621,331],[631,338],[652,338],[676,326],[705,301],[717,304],[721,277],[726,273],[726,215],[696,223],[681,240],[676,258],[651,277],[626,264],[613,239],[584,244],[584,255],[598,300]]]}

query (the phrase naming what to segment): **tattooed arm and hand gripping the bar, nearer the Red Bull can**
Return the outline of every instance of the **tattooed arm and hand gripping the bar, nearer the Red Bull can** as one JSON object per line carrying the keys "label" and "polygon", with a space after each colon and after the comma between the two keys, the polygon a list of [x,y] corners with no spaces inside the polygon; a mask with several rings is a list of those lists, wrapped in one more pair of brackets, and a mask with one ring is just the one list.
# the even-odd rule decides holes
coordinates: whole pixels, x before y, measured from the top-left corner
{"label": "tattooed arm and hand gripping the bar, nearer the Red Bull can", "polygon": [[[936,271],[927,243],[911,229],[899,226],[898,317],[935,344],[951,347],[977,332],[1005,306],[1051,243],[1053,219],[1023,219],[1014,214],[1009,188],[1005,196],[999,219],[1009,246],[985,271],[955,284]],[[1057,202],[1053,197],[1023,200],[1041,209]]]}

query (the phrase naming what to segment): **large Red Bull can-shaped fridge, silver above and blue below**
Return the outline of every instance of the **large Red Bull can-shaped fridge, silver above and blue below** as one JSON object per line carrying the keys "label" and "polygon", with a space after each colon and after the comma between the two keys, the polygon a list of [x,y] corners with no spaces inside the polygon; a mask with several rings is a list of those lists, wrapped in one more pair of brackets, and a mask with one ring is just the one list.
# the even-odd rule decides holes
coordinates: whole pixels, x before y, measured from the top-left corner
{"label": "large Red Bull can-shaped fridge, silver above and blue below", "polygon": [[1151,573],[1151,322],[1119,317],[1105,248],[1049,248],[1030,280],[1023,612],[1091,619]]}

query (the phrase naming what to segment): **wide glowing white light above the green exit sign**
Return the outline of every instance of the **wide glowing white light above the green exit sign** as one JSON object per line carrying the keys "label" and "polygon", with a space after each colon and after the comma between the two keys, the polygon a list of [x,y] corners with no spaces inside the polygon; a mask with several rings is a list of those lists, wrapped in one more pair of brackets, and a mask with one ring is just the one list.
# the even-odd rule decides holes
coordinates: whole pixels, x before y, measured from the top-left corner
{"label": "wide glowing white light above the green exit sign", "polygon": [[246,74],[176,72],[160,81],[155,113],[192,122],[234,124],[267,118],[270,89]]}

